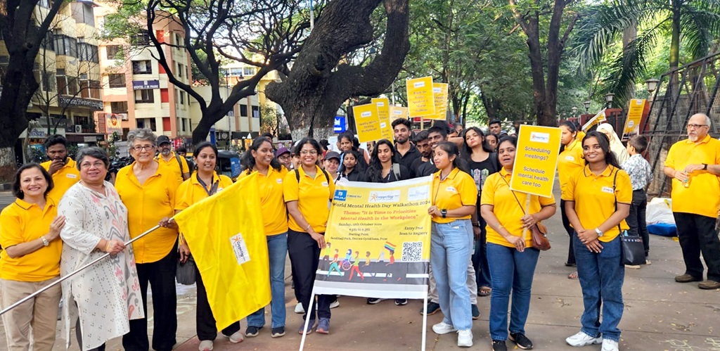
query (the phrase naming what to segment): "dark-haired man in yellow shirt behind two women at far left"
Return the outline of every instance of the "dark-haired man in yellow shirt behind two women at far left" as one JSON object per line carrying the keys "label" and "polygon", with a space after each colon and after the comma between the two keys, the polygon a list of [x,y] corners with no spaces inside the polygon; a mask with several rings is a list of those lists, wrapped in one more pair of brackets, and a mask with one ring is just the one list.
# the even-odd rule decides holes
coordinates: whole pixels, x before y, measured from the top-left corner
{"label": "dark-haired man in yellow shirt behind two women at far left", "polygon": [[80,180],[80,171],[75,161],[68,156],[68,141],[63,135],[50,135],[45,139],[45,155],[50,161],[45,161],[40,166],[50,173],[54,184],[48,197],[55,203],[60,203],[65,192]]}

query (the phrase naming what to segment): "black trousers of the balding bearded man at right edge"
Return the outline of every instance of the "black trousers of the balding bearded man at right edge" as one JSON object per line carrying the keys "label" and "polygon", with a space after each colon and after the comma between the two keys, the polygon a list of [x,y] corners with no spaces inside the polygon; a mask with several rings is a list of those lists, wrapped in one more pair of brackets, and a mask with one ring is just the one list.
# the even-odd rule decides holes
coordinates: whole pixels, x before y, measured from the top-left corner
{"label": "black trousers of the balding bearded man at right edge", "polygon": [[672,216],[675,217],[680,248],[683,249],[685,274],[703,277],[702,253],[708,266],[708,280],[720,282],[720,239],[715,231],[716,218],[680,212],[673,212]]}

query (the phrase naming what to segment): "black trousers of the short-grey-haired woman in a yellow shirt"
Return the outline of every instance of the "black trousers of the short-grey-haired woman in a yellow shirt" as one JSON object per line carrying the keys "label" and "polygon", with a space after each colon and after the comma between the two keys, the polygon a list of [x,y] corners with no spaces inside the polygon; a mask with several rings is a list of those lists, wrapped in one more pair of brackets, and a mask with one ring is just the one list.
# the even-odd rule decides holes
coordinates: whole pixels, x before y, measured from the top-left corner
{"label": "black trousers of the short-grey-haired woman in a yellow shirt", "polygon": [[126,351],[148,351],[148,284],[153,292],[153,349],[173,349],[178,329],[175,270],[177,267],[177,241],[170,252],[157,262],[138,263],[140,294],[143,296],[144,319],[130,321],[130,332],[122,336]]}

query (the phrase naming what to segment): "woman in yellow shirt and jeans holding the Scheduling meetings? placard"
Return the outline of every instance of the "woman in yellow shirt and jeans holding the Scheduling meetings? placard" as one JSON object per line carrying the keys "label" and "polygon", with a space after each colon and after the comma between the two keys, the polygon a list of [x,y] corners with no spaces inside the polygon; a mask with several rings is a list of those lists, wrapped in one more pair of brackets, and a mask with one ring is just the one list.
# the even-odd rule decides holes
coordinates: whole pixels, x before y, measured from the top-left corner
{"label": "woman in yellow shirt and jeans holding the Scheduling meetings? placard", "polygon": [[[532,238],[523,231],[555,214],[555,199],[510,190],[517,141],[513,137],[500,139],[498,158],[503,167],[490,174],[482,187],[480,213],[487,222],[487,261],[492,278],[490,297],[490,337],[492,350],[508,350],[508,305],[510,292],[510,339],[523,350],[533,343],[525,336],[525,322],[530,311],[530,291],[540,251],[532,246]],[[529,213],[523,205],[530,196]]]}

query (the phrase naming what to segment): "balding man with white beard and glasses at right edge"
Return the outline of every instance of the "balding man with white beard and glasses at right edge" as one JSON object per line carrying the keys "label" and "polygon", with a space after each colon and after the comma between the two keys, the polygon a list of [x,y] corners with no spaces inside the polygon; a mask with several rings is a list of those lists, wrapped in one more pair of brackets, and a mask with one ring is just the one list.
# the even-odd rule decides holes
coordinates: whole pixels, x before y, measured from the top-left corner
{"label": "balding man with white beard and glasses at right edge", "polygon": [[678,283],[703,280],[703,254],[708,280],[698,288],[720,288],[720,239],[715,222],[720,211],[720,141],[708,135],[711,120],[698,113],[688,120],[688,139],[670,147],[665,175],[672,178],[672,215],[683,249],[685,274]]}

